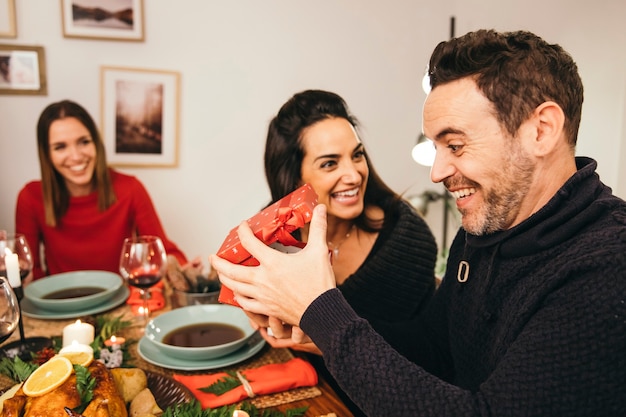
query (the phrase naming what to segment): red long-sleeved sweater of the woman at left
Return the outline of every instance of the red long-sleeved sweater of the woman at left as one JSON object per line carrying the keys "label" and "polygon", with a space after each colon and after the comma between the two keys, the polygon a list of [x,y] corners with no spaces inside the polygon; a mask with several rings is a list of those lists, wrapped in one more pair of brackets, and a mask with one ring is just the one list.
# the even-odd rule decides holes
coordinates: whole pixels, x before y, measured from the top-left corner
{"label": "red long-sleeved sweater of the woman at left", "polygon": [[[26,236],[33,253],[34,278],[67,271],[104,270],[119,273],[122,242],[136,232],[163,240],[168,255],[187,262],[183,252],[165,235],[144,186],[135,177],[111,170],[117,201],[98,210],[98,195],[71,197],[57,227],[46,224],[41,181],[32,181],[17,198],[15,232]],[[45,257],[39,251],[43,246]]]}

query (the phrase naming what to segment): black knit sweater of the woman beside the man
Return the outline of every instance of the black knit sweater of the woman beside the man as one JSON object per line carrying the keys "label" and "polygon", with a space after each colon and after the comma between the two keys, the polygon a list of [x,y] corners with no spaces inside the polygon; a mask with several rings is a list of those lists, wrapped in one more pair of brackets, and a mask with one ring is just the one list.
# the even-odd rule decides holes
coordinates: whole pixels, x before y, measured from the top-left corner
{"label": "black knit sweater of the woman beside the man", "polygon": [[[408,320],[435,290],[436,257],[437,244],[424,219],[406,202],[399,202],[386,214],[365,261],[339,289],[357,314],[373,323]],[[308,358],[355,417],[364,415],[335,384],[322,359]]]}

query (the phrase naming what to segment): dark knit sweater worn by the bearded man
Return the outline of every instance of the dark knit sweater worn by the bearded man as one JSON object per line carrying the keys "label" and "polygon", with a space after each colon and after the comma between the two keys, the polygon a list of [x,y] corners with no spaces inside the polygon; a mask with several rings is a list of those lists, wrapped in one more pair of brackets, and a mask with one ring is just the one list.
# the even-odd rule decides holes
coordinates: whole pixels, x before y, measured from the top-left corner
{"label": "dark knit sweater worn by the bearded man", "polygon": [[338,290],[309,306],[302,329],[368,415],[626,415],[626,203],[577,165],[518,226],[459,231],[419,319],[380,330],[406,356]]}

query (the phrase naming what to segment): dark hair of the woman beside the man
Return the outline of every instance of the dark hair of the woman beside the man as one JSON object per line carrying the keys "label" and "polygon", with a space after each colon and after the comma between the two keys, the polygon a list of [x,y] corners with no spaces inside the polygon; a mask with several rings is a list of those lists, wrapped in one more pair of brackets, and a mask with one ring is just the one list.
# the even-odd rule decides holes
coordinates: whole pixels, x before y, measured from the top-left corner
{"label": "dark hair of the woman beside the man", "polygon": [[[306,90],[295,94],[272,119],[265,142],[265,177],[272,193],[272,203],[302,185],[304,129],[334,117],[347,120],[358,132],[357,119],[350,114],[343,98],[322,90]],[[400,196],[378,176],[367,152],[364,152],[369,168],[364,196],[365,208],[380,207],[387,217],[388,211],[400,201]],[[363,210],[355,219],[356,226],[369,232],[380,230],[382,223],[368,218],[366,211]]]}

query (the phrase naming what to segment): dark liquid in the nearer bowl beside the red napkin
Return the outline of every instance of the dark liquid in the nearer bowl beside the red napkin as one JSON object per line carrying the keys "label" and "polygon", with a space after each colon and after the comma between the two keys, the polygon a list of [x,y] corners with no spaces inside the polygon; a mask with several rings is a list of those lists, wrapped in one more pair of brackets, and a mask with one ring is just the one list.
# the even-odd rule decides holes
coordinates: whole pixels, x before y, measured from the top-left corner
{"label": "dark liquid in the nearer bowl beside the red napkin", "polygon": [[181,347],[217,346],[244,336],[239,327],[223,323],[201,323],[180,327],[163,337],[163,343]]}

